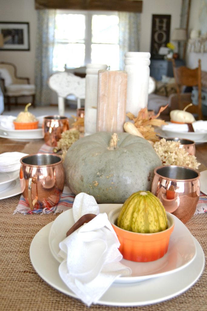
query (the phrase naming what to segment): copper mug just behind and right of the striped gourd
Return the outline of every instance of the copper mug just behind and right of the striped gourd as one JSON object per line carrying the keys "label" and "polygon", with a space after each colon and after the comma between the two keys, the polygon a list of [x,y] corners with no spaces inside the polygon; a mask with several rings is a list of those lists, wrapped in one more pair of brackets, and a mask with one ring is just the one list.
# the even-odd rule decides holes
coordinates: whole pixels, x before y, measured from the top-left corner
{"label": "copper mug just behind and right of the striped gourd", "polygon": [[154,169],[151,192],[169,213],[186,223],[194,215],[200,196],[200,173],[185,166],[164,165]]}

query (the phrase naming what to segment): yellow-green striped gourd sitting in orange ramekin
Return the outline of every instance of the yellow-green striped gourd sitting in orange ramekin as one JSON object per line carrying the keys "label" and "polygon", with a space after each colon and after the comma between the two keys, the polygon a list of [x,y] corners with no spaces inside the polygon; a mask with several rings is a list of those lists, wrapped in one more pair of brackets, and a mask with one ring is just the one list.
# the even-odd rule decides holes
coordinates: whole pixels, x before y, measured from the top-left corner
{"label": "yellow-green striped gourd sitting in orange ramekin", "polygon": [[150,191],[138,191],[124,202],[117,225],[128,231],[154,233],[167,229],[168,221],[160,200]]}

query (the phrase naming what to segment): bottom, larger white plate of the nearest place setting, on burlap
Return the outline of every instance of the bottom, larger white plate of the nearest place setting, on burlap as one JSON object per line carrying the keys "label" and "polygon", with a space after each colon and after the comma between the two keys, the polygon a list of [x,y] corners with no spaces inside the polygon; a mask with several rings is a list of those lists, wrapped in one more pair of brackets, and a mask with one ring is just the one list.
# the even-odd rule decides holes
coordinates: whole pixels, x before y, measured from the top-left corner
{"label": "bottom, larger white plate of the nearest place setting, on burlap", "polygon": [[[51,226],[52,223],[47,224],[35,235],[30,245],[30,260],[38,275],[45,282],[66,295],[78,298],[59,276],[59,262],[52,256],[48,243]],[[193,239],[196,244],[196,257],[187,267],[175,273],[155,277],[143,282],[113,283],[97,304],[113,306],[155,304],[186,291],[200,277],[205,262],[200,244],[195,238]]]}

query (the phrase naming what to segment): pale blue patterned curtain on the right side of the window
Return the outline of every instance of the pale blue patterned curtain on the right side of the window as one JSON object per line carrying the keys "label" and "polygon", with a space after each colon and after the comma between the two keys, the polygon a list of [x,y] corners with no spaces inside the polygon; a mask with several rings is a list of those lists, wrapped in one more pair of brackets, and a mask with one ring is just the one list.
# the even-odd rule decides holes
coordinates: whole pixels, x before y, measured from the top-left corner
{"label": "pale blue patterned curtain on the right side of the window", "polygon": [[141,14],[119,12],[119,66],[124,69],[124,54],[140,51]]}

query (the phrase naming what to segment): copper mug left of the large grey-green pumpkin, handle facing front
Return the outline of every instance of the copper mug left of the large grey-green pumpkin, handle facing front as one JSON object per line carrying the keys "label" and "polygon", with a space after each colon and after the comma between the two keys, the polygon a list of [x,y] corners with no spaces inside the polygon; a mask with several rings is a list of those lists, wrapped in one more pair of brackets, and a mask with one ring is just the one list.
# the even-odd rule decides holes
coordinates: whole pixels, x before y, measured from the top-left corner
{"label": "copper mug left of the large grey-green pumpkin, handle facing front", "polygon": [[20,163],[20,187],[30,209],[55,206],[64,188],[62,158],[38,153],[24,156]]}

